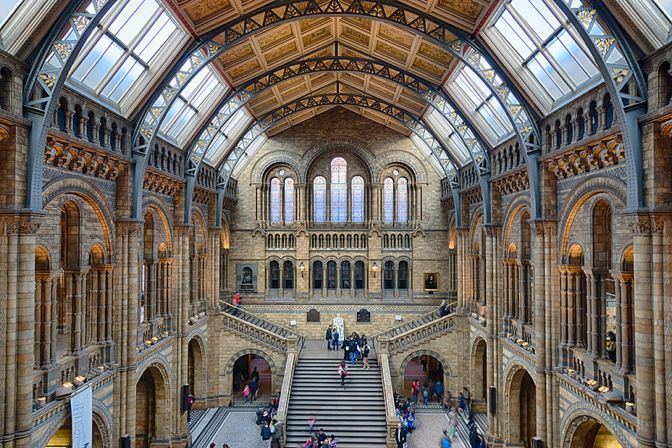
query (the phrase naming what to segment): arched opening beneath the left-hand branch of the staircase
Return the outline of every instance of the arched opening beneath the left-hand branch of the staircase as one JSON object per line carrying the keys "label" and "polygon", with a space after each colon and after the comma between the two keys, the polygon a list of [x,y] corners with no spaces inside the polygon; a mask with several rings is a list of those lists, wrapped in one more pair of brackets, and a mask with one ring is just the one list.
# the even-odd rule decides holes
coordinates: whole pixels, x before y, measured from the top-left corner
{"label": "arched opening beneath the left-hand branch of the staircase", "polygon": [[[258,375],[254,375],[256,373]],[[268,401],[273,392],[273,375],[275,365],[273,359],[259,350],[244,350],[231,357],[227,367],[231,378],[231,399],[245,401],[243,390],[249,385],[252,376],[258,376],[257,400]]]}

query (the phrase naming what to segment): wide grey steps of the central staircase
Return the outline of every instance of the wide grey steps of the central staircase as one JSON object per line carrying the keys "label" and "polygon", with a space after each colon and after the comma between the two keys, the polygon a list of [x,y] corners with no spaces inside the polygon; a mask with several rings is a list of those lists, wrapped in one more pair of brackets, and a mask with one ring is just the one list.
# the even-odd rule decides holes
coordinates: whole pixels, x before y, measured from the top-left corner
{"label": "wide grey steps of the central staircase", "polygon": [[386,446],[385,403],[380,369],[372,352],[370,370],[361,361],[348,363],[345,388],[340,385],[338,362],[343,352],[328,352],[322,342],[307,341],[294,371],[287,412],[287,447],[308,440],[308,419],[317,417],[314,431],[334,434],[339,448]]}

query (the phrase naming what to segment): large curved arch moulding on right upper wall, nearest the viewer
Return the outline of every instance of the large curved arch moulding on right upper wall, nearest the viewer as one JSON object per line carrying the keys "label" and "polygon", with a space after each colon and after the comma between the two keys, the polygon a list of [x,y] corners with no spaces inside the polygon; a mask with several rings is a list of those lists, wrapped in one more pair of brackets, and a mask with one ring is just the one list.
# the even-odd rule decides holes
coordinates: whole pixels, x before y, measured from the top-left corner
{"label": "large curved arch moulding on right upper wall, nearest the viewer", "polygon": [[579,183],[569,192],[558,213],[560,217],[558,233],[561,235],[558,254],[564,254],[567,251],[572,223],[579,213],[581,206],[598,194],[604,194],[612,198],[612,201],[609,201],[612,210],[621,209],[627,203],[625,182],[613,176],[596,175]]}

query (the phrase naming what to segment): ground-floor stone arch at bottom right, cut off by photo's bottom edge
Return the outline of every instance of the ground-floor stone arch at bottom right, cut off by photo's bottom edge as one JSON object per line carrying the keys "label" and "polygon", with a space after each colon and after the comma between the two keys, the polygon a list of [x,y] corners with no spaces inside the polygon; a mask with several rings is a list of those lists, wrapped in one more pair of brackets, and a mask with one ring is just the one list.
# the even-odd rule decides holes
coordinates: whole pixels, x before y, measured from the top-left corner
{"label": "ground-floor stone arch at bottom right, cut off by photo's bottom edge", "polygon": [[560,447],[585,448],[581,443],[585,443],[585,437],[591,432],[590,427],[593,425],[604,426],[616,437],[621,447],[631,446],[624,431],[605,412],[588,403],[578,402],[567,409],[560,421]]}

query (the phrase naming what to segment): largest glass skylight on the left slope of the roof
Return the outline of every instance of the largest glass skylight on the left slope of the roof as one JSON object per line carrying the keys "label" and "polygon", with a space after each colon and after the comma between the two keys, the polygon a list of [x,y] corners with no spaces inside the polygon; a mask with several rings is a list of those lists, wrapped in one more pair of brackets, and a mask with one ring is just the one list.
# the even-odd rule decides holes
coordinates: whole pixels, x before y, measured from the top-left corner
{"label": "largest glass skylight on the left slope of the roof", "polygon": [[115,11],[87,42],[71,79],[119,103],[169,40],[184,33],[156,0],[127,0]]}

